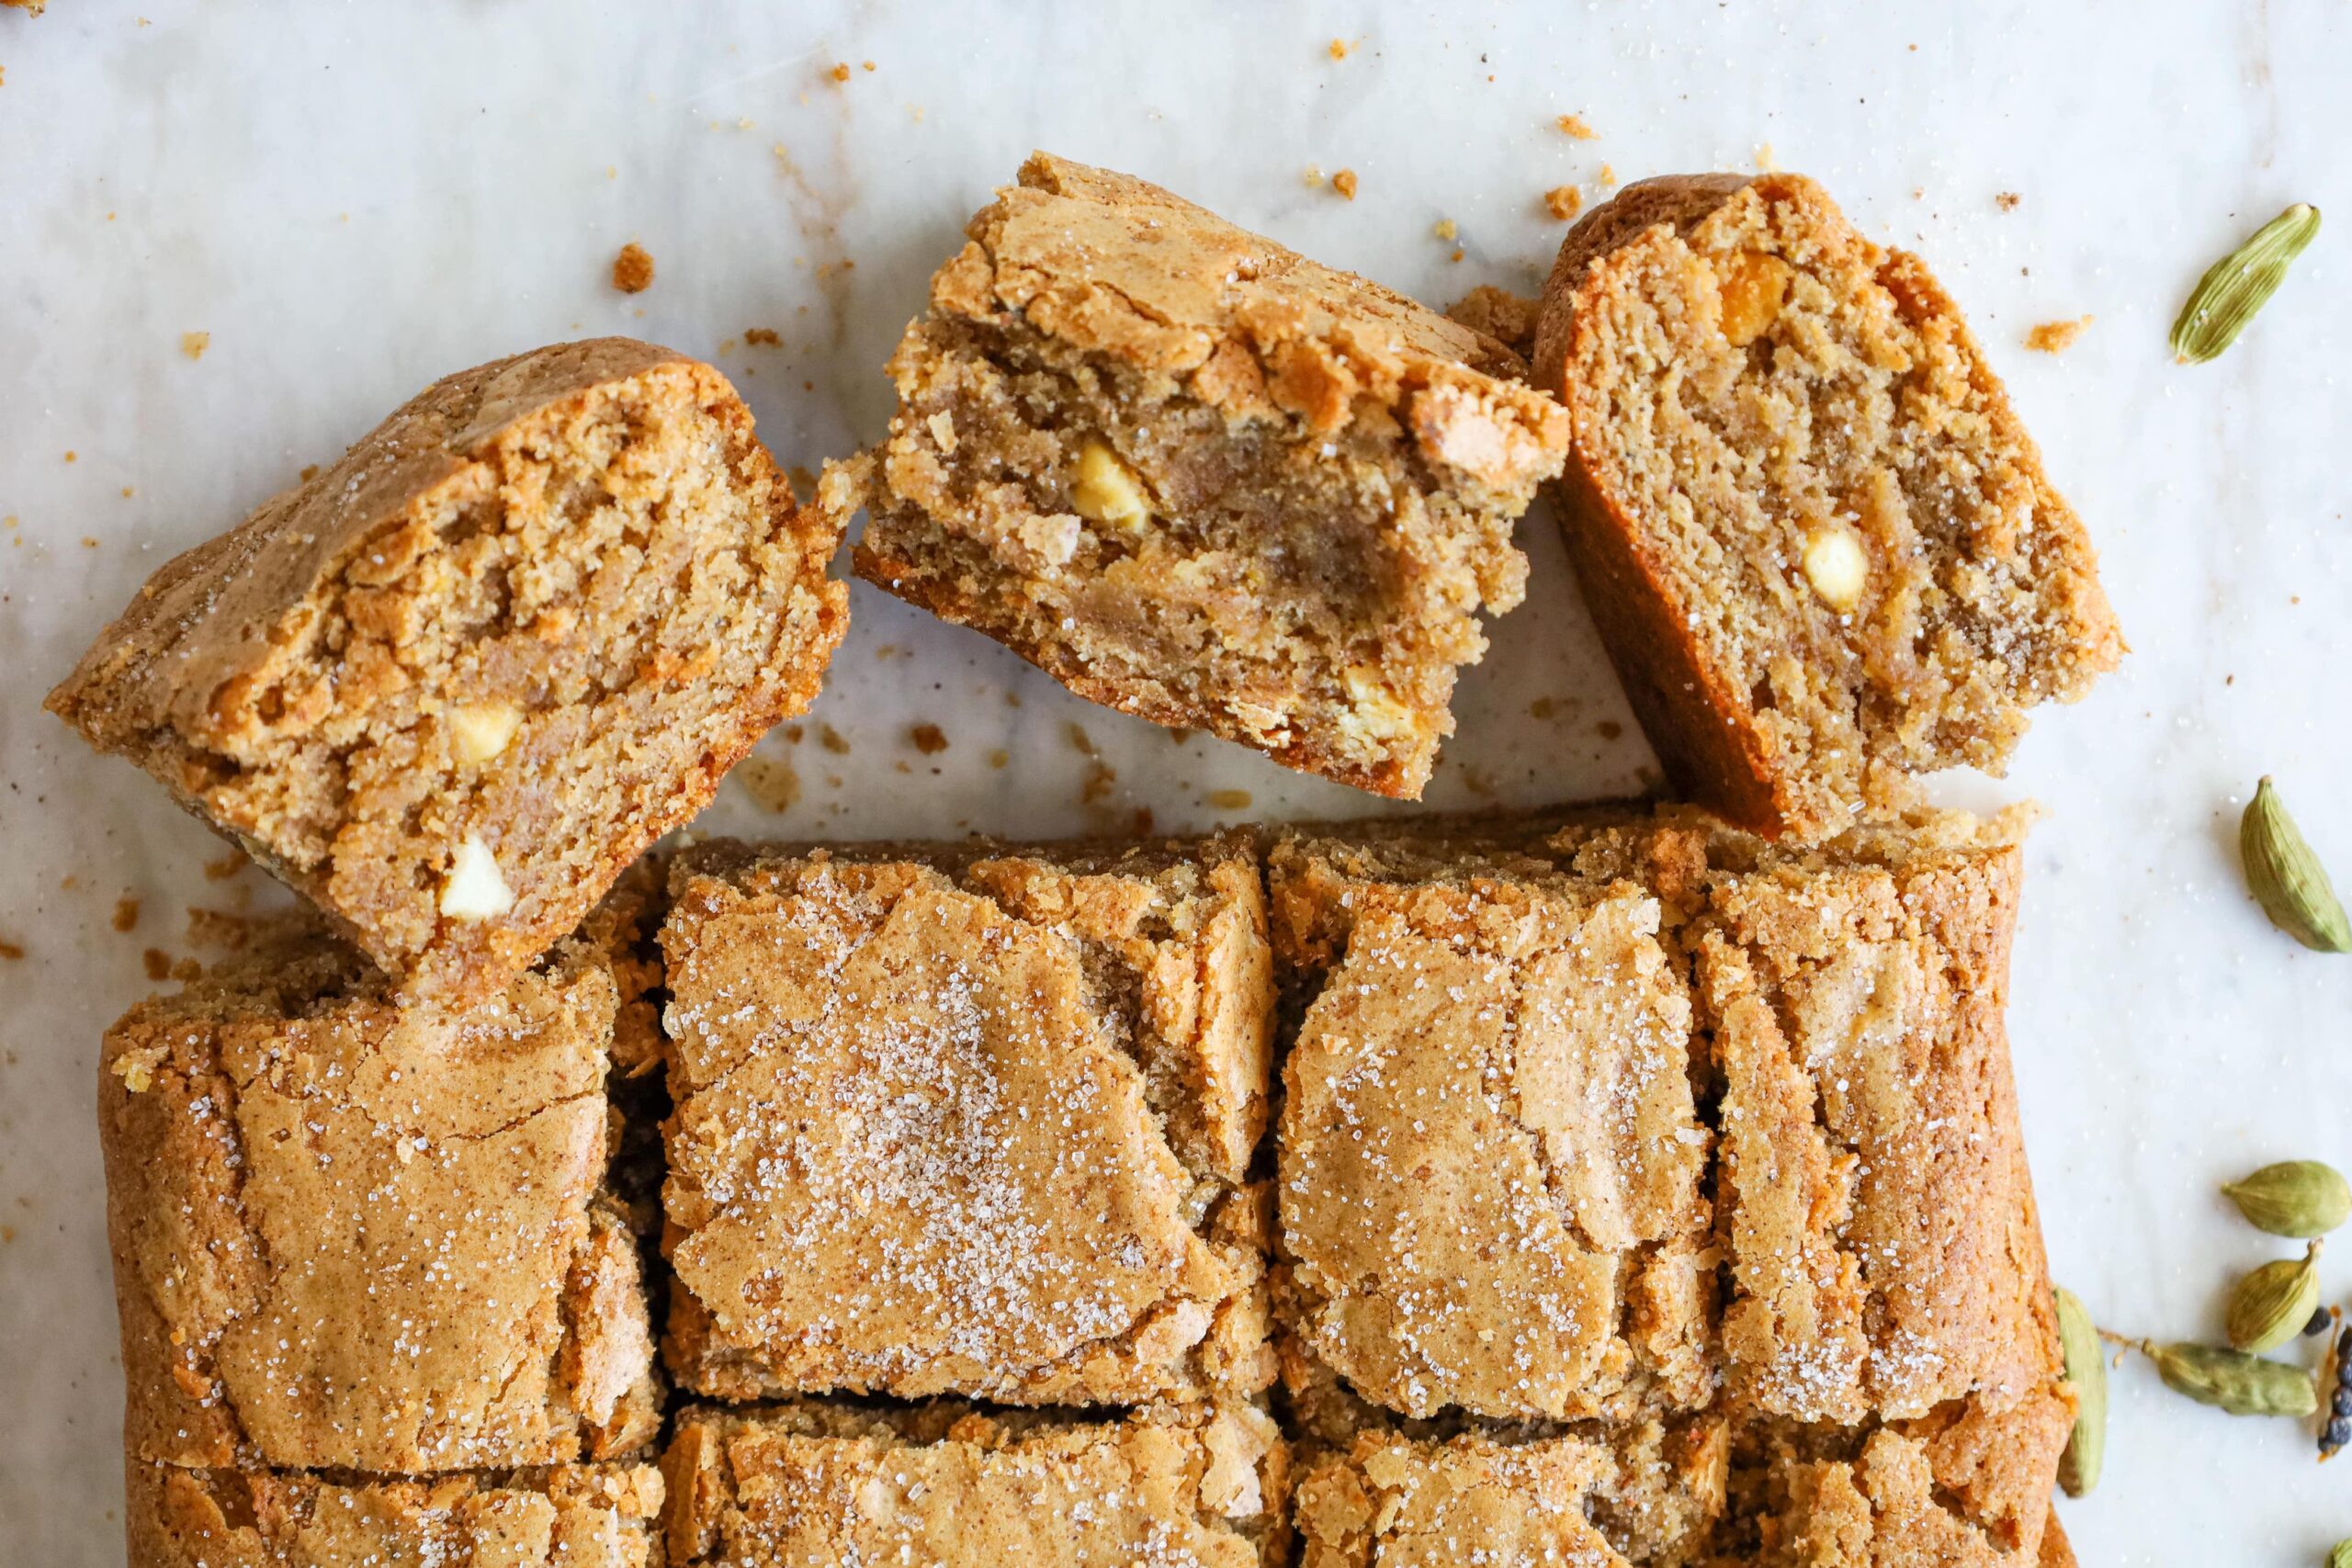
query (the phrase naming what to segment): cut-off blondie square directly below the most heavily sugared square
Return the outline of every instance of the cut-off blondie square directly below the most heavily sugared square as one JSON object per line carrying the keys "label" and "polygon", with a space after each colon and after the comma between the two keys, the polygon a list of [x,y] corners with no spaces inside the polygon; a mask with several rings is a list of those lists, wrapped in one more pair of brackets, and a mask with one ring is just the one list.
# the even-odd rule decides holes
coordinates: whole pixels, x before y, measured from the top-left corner
{"label": "cut-off blondie square directly below the most heavily sugared square", "polygon": [[1275,1568],[1287,1448],[1247,1403],[1101,1422],[960,1401],[691,1408],[663,1458],[670,1568]]}

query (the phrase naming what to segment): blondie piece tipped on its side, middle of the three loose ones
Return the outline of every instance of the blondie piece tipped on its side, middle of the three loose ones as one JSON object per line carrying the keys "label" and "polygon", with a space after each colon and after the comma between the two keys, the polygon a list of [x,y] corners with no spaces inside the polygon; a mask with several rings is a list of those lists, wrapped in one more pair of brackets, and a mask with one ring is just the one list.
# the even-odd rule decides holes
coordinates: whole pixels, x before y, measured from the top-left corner
{"label": "blondie piece tipped on its side, middle of the three loose ones", "polygon": [[1418,797],[1566,418],[1508,348],[1157,186],[1037,153],[821,496],[856,569],[1080,696]]}

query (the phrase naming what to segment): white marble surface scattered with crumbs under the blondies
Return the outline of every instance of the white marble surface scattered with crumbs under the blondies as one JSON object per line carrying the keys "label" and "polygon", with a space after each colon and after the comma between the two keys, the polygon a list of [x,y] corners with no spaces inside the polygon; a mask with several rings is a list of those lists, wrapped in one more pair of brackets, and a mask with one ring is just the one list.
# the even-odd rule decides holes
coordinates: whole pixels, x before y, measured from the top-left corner
{"label": "white marble surface scattered with crumbs under the blondies", "polygon": [[[2011,1025],[2053,1267],[2114,1326],[2213,1333],[2230,1272],[2284,1251],[2216,1180],[2352,1164],[2352,959],[2272,933],[2232,851],[2272,771],[2352,879],[2347,235],[2223,362],[2164,350],[2187,284],[2256,221],[2288,200],[2352,219],[2352,9],[141,2],[146,21],[113,0],[0,12],[0,938],[26,950],[0,961],[0,1559],[120,1561],[94,1046],[148,990],[143,947],[191,952],[191,903],[270,896],[252,870],[209,882],[221,846],[40,693],[167,555],[492,355],[649,336],[717,357],[783,461],[847,451],[887,414],[880,362],[924,275],[1033,146],[1430,301],[1524,287],[1559,237],[1548,186],[1752,167],[1764,143],[1924,252],[2091,520],[2133,642],[2009,780],[1947,790],[2049,806]],[[1555,132],[1566,110],[1599,139]],[[1308,188],[1308,165],[1357,169],[1359,197]],[[659,282],[623,299],[604,273],[633,237]],[[2020,348],[2084,313],[2063,357]],[[748,327],[783,348],[743,348]],[[212,334],[200,360],[186,331]],[[1437,804],[1623,790],[1649,766],[1613,729],[1550,520],[1524,543],[1534,590],[1465,682]],[[727,827],[1242,816],[1211,790],[1247,790],[1254,816],[1357,804],[1087,708],[866,588],[854,614],[807,738],[762,748],[797,766],[800,804],[779,818],[729,783]],[[915,722],[950,748],[917,755]],[[1091,806],[1070,724],[1117,773]],[[2352,1295],[2352,1241],[2326,1286]],[[2352,1467],[2133,1363],[2107,1481],[2063,1519],[2086,1563],[2317,1563],[2352,1533]]]}

